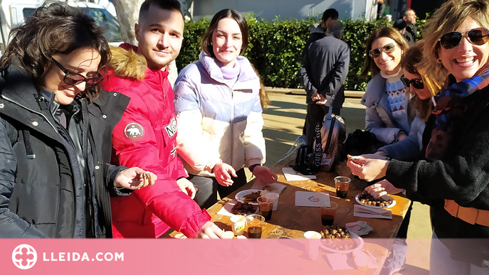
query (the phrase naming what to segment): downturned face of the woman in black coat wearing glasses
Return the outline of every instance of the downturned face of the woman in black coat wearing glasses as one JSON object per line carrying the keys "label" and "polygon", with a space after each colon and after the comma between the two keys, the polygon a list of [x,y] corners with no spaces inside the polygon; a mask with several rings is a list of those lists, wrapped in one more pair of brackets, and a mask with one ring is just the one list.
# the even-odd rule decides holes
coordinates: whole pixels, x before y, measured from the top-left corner
{"label": "downturned face of the woman in black coat wearing glasses", "polygon": [[[100,64],[100,53],[93,48],[79,48],[73,50],[68,55],[53,55],[53,58],[58,61],[64,68],[77,72],[84,77],[96,77],[98,75],[98,65]],[[78,85],[67,85],[63,78],[65,73],[56,65],[43,75],[44,87],[46,90],[53,91],[55,94],[54,100],[62,105],[67,105],[73,102],[75,96],[85,90],[85,82]]]}

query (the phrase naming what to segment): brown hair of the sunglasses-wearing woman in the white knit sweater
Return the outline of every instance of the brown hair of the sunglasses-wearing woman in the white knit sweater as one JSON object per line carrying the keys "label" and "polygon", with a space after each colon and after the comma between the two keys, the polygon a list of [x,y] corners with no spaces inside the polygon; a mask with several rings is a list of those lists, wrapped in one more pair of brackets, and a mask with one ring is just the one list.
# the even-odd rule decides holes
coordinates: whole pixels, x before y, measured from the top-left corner
{"label": "brown hair of the sunglasses-wearing woman in the white knit sweater", "polygon": [[372,50],[372,43],[374,43],[377,38],[381,37],[388,37],[391,38],[394,42],[396,42],[397,45],[399,45],[399,48],[406,53],[406,50],[409,48],[409,45],[406,43],[406,39],[397,31],[395,28],[392,27],[384,27],[384,28],[377,28],[377,30],[373,31],[370,33],[369,38],[367,39],[367,47],[366,47],[366,57],[363,63],[363,68],[362,68],[362,74],[360,75],[361,77],[369,77],[369,72],[372,72],[371,77],[374,77],[380,72],[379,67],[375,64],[375,61],[373,58],[370,58],[369,52]]}

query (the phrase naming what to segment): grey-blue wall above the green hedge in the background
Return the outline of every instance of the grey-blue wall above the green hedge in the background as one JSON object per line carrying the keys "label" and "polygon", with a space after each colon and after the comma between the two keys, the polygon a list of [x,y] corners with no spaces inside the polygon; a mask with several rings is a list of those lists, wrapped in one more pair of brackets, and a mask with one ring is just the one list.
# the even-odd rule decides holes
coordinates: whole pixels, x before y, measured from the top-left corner
{"label": "grey-blue wall above the green hedge in the background", "polygon": [[[280,19],[307,18],[322,15],[326,9],[336,9],[340,19],[369,18],[372,0],[199,0],[194,1],[194,20],[205,16],[211,18],[221,9],[236,9],[243,14],[256,14],[259,18],[272,21]],[[367,12],[366,12],[367,11]]]}

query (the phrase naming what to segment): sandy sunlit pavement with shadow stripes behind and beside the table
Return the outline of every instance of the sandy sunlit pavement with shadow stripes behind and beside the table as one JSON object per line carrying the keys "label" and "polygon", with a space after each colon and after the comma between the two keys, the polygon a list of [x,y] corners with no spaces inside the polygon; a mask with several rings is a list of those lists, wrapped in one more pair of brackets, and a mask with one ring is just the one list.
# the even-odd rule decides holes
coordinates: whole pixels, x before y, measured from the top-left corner
{"label": "sandy sunlit pavement with shadow stripes behind and beside the table", "polygon": [[[306,104],[305,92],[299,89],[269,88],[270,106],[263,112],[265,126],[263,136],[266,142],[267,166],[273,166],[293,145],[303,132]],[[341,111],[345,119],[347,133],[364,129],[365,107],[360,104],[363,92],[347,92],[347,99]],[[382,230],[382,229],[374,229]],[[408,252],[406,269],[396,274],[429,274],[429,247],[431,243],[431,222],[429,207],[414,203],[408,229]]]}

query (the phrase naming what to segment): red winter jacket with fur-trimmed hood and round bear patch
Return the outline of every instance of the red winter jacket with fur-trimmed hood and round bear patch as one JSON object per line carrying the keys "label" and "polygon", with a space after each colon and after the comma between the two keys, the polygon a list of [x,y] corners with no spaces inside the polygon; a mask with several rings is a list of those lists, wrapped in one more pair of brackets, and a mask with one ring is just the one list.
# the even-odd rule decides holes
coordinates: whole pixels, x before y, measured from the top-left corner
{"label": "red winter jacket with fur-trimmed hood and round bear patch", "polygon": [[211,217],[177,185],[187,173],[176,154],[177,122],[168,72],[147,68],[135,46],[122,44],[111,51],[103,87],[131,98],[112,132],[112,163],[137,166],[158,177],[152,186],[111,198],[113,236],[161,237],[172,227],[194,237]]}

